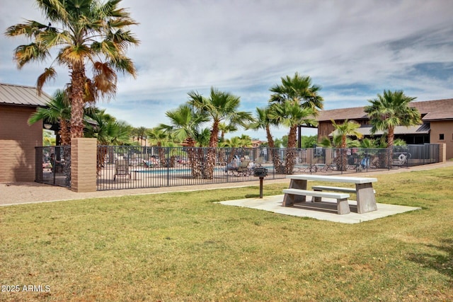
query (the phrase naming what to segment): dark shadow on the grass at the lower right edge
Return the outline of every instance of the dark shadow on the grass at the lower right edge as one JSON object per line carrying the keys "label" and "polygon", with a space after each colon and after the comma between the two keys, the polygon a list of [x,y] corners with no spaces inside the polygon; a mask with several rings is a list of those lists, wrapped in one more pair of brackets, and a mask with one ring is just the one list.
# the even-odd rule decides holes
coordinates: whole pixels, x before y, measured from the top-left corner
{"label": "dark shadow on the grass at the lower right edge", "polygon": [[453,281],[453,239],[444,239],[441,245],[426,246],[435,248],[438,252],[410,254],[408,259],[425,267],[436,269],[437,272],[447,275]]}

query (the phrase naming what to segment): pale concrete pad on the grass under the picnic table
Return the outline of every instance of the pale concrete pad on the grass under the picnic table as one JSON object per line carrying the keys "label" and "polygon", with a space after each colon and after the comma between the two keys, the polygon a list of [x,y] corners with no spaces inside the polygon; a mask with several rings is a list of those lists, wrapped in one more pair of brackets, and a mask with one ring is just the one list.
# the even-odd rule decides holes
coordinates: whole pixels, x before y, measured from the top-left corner
{"label": "pale concrete pad on the grass under the picnic table", "polygon": [[419,207],[398,206],[396,204],[377,204],[377,211],[371,211],[364,214],[357,213],[357,202],[350,200],[350,214],[338,215],[336,210],[335,199],[323,199],[323,202],[304,202],[295,204],[293,207],[282,207],[284,195],[275,195],[260,198],[247,198],[238,200],[228,200],[219,202],[229,206],[247,207],[251,209],[260,209],[271,211],[278,214],[310,217],[319,220],[328,220],[340,223],[360,223],[386,216],[404,213],[406,211],[415,211]]}

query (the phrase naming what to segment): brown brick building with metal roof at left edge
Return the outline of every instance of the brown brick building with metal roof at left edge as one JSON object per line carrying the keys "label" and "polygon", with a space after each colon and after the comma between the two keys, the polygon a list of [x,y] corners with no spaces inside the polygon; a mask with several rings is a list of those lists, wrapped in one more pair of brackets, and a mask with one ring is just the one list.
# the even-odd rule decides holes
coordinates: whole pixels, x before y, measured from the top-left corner
{"label": "brown brick building with metal roof at left edge", "polygon": [[28,125],[50,96],[35,87],[0,83],[0,182],[35,180],[35,146],[42,146],[42,123]]}

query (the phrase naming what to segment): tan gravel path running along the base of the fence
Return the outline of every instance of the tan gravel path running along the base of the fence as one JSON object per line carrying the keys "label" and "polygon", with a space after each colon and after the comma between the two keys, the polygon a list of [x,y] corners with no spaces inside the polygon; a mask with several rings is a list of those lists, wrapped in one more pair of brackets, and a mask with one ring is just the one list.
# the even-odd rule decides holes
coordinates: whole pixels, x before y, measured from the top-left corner
{"label": "tan gravel path running along the base of the fence", "polygon": [[[419,165],[412,168],[400,168],[390,171],[380,171],[376,173],[360,173],[360,176],[401,173],[413,170],[431,170],[435,168],[453,166],[453,161],[445,163],[435,163],[432,165]],[[348,174],[349,175],[349,174]],[[264,184],[269,183],[288,183],[289,180],[264,180]],[[99,197],[117,197],[125,195],[139,194],[156,194],[164,192],[184,192],[194,190],[214,190],[219,188],[229,187],[246,187],[251,185],[259,185],[259,181],[252,182],[234,182],[214,185],[190,185],[185,187],[153,187],[147,189],[128,189],[128,190],[111,190],[97,192],[81,192],[76,193],[65,187],[54,187],[52,185],[44,185],[38,182],[0,182],[0,206],[12,204],[29,204],[35,202],[57,202],[71,199],[87,199]]]}

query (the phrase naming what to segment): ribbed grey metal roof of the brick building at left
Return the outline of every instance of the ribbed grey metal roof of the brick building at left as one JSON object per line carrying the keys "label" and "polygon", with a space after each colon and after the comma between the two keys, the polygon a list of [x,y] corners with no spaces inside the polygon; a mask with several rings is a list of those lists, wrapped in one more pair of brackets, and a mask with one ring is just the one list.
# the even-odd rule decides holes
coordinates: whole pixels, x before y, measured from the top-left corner
{"label": "ribbed grey metal roof of the brick building at left", "polygon": [[50,100],[45,92],[38,95],[36,87],[0,83],[0,104],[45,107]]}

